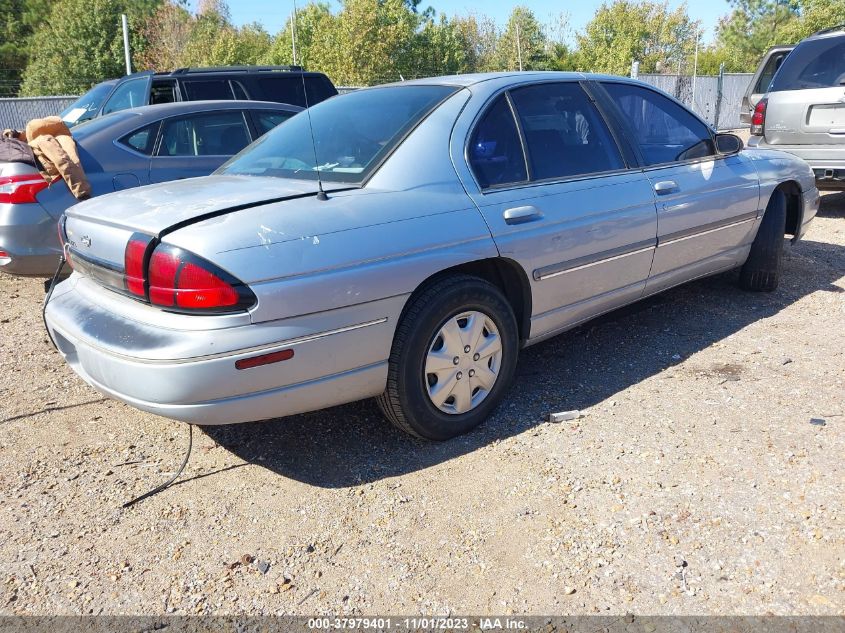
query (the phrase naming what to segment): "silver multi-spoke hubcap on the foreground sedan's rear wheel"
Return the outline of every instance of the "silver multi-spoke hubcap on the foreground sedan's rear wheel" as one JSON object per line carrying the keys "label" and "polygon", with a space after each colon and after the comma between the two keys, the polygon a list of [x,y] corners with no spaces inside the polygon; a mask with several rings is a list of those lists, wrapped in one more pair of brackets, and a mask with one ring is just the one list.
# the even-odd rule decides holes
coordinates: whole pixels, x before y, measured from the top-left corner
{"label": "silver multi-spoke hubcap on the foreground sedan's rear wheel", "polygon": [[428,397],[444,413],[471,411],[493,390],[501,367],[502,339],[493,319],[462,312],[446,321],[428,346]]}

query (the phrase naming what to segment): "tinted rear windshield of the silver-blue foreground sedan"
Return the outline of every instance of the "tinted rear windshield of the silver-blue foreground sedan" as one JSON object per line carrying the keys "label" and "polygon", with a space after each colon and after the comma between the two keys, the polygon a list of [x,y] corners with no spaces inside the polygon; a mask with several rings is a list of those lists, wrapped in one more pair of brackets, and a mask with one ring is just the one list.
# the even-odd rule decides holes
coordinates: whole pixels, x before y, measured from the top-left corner
{"label": "tinted rear windshield of the silver-blue foreground sedan", "polygon": [[316,180],[319,171],[323,180],[360,184],[456,90],[400,85],[333,97],[288,119],[216,173]]}

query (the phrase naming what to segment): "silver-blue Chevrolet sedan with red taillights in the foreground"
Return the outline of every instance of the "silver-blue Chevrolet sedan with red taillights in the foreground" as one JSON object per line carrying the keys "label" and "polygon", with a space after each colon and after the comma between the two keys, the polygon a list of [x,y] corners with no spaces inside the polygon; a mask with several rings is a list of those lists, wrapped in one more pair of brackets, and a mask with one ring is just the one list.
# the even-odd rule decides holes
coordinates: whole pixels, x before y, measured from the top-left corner
{"label": "silver-blue Chevrolet sedan with red taillights in the foreground", "polygon": [[211,176],[68,209],[74,272],[46,322],[82,378],[146,411],[225,424],[374,397],[442,440],[493,411],[524,346],[733,268],[773,290],[818,203],[806,163],[636,81],[410,81],[320,103]]}

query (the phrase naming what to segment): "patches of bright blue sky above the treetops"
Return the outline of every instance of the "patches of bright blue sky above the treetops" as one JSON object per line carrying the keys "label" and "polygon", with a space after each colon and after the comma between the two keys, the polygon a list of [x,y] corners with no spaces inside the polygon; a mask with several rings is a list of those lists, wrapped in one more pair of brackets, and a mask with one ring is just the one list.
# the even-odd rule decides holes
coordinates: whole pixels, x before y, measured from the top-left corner
{"label": "patches of bright blue sky above the treetops", "polygon": [[[194,4],[196,2],[194,1]],[[297,6],[304,6],[305,0],[297,0]],[[334,8],[338,2],[331,1]],[[435,11],[447,15],[466,14],[471,12],[484,13],[496,20],[499,25],[507,21],[511,9],[516,4],[524,4],[534,11],[543,22],[551,22],[560,13],[569,14],[569,24],[573,31],[578,31],[589,22],[601,6],[601,0],[514,0],[513,2],[471,2],[470,0],[423,0],[421,6],[432,6]],[[682,4],[681,0],[669,0],[674,8]],[[730,12],[727,0],[689,0],[687,11],[690,17],[701,20],[704,29],[701,40],[709,43],[714,36],[714,28],[719,18]],[[292,0],[229,0],[232,21],[241,25],[248,22],[259,22],[270,33],[281,30],[288,15],[293,9]]]}

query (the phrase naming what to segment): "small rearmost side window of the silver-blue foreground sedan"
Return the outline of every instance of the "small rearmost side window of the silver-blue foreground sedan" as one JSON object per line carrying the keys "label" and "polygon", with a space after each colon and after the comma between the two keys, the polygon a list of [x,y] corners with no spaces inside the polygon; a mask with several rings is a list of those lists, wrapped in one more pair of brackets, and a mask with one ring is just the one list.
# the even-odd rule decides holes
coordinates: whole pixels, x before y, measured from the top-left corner
{"label": "small rearmost side window of the silver-blue foreground sedan", "polygon": [[499,96],[476,124],[468,158],[482,189],[528,180],[522,143],[505,95]]}

